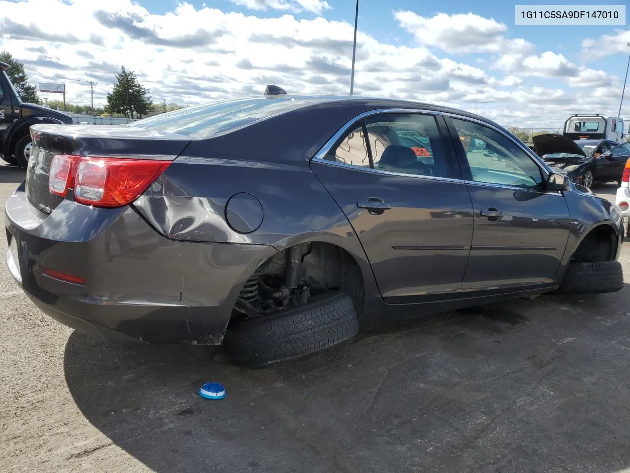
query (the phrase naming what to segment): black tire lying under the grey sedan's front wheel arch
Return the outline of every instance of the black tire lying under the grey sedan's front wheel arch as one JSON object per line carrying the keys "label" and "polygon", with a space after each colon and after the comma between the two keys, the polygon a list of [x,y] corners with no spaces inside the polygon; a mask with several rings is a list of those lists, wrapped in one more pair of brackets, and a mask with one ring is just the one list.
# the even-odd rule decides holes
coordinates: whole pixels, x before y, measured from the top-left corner
{"label": "black tire lying under the grey sedan's front wheel arch", "polygon": [[614,293],[624,287],[619,261],[573,262],[569,264],[557,294]]}

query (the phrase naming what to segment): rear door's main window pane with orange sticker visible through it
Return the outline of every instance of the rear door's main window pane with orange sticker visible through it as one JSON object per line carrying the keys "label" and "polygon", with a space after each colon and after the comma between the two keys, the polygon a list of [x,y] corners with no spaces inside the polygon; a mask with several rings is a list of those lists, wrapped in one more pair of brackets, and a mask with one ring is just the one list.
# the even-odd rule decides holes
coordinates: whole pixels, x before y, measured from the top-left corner
{"label": "rear door's main window pane with orange sticker visible through it", "polygon": [[433,115],[381,114],[365,119],[374,168],[448,177],[440,132]]}

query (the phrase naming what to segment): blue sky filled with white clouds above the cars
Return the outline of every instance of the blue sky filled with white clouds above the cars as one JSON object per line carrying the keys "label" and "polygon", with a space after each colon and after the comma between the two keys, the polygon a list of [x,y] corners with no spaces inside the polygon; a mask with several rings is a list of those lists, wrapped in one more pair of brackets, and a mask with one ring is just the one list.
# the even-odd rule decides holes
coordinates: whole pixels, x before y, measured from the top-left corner
{"label": "blue sky filled with white clouds above the cars", "polygon": [[[595,2],[570,4],[580,3]],[[0,50],[32,83],[65,83],[67,100],[86,105],[89,85],[77,80],[96,81],[104,105],[121,66],[154,103],[260,95],[267,84],[348,94],[354,15],[353,0],[0,0]],[[627,42],[627,25],[515,26],[514,3],[500,0],[360,0],[354,93],[561,127],[571,113],[617,115]]]}

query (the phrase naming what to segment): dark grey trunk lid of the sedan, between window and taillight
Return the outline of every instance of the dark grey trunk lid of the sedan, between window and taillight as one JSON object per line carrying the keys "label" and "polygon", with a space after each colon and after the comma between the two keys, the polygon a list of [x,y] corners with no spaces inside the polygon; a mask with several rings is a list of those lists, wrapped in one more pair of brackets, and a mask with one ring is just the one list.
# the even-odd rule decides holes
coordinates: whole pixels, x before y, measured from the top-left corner
{"label": "dark grey trunk lid of the sedan, between window and taillight", "polygon": [[49,191],[50,162],[55,155],[115,156],[173,161],[190,143],[178,134],[129,126],[35,125],[26,168],[26,199],[39,218],[64,200]]}

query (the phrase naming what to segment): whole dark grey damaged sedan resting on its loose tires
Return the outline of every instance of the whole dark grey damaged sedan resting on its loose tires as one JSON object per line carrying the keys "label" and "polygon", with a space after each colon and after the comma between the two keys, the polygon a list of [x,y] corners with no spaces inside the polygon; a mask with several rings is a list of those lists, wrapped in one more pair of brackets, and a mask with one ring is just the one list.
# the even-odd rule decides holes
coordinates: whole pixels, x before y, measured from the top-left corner
{"label": "whole dark grey damaged sedan resting on its loose tires", "polygon": [[269,93],[31,136],[9,269],[108,339],[265,366],[396,318],[623,286],[616,207],[461,110]]}

